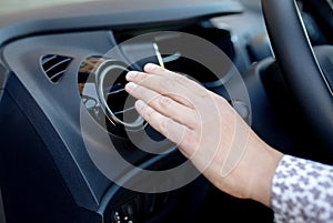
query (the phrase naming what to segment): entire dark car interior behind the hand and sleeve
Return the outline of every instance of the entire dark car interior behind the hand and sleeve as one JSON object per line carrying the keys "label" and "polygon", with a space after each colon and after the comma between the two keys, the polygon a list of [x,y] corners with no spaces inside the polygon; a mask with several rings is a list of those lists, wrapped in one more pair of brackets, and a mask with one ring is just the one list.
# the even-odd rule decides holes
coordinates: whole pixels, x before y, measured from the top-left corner
{"label": "entire dark car interior behind the hand and sleeve", "polygon": [[124,75],[148,62],[184,74],[271,146],[333,164],[332,44],[332,0],[69,1],[0,16],[0,223],[274,222],[151,128]]}

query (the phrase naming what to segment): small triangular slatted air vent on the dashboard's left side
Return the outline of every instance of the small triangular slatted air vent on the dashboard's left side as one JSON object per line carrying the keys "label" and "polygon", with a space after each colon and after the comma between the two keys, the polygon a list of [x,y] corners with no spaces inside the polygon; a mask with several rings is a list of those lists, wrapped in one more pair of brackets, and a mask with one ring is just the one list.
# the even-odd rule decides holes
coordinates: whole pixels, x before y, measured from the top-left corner
{"label": "small triangular slatted air vent on the dashboard's left side", "polygon": [[41,65],[52,83],[57,83],[67,71],[72,58],[48,54],[41,58]]}

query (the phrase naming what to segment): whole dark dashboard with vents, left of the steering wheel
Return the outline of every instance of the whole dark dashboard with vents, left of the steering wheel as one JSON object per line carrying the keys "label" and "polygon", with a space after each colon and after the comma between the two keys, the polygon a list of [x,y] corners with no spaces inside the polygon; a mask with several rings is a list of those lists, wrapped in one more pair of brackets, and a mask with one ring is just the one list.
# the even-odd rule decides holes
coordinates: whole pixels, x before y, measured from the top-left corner
{"label": "whole dark dashboard with vents, left of the steering wheel", "polygon": [[[262,107],[253,107],[238,81],[273,55],[261,12],[251,6],[256,1],[246,2],[94,1],[1,18],[7,222],[194,223],[213,216],[214,209],[200,211],[211,184],[135,112],[124,75],[147,62],[163,65],[226,98],[265,132],[256,125]],[[253,220],[272,219],[254,206]]]}

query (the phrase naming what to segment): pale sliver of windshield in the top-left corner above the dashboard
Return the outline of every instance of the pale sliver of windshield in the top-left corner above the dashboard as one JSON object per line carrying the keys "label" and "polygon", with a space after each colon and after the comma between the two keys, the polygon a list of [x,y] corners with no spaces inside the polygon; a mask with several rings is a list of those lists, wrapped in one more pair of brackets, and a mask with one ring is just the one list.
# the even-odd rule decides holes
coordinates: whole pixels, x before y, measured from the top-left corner
{"label": "pale sliver of windshield in the top-left corner above the dashboard", "polygon": [[47,8],[59,4],[68,4],[83,1],[95,1],[95,0],[0,0],[0,14],[16,13],[20,11]]}

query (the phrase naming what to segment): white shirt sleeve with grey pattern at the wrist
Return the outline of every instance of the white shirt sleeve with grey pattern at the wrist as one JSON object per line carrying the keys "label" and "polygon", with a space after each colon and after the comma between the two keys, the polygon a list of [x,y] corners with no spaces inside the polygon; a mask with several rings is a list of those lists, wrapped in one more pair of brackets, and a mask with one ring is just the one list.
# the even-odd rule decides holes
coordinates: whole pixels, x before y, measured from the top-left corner
{"label": "white shirt sleeve with grey pattern at the wrist", "polygon": [[333,166],[284,155],[272,182],[276,223],[333,222]]}

